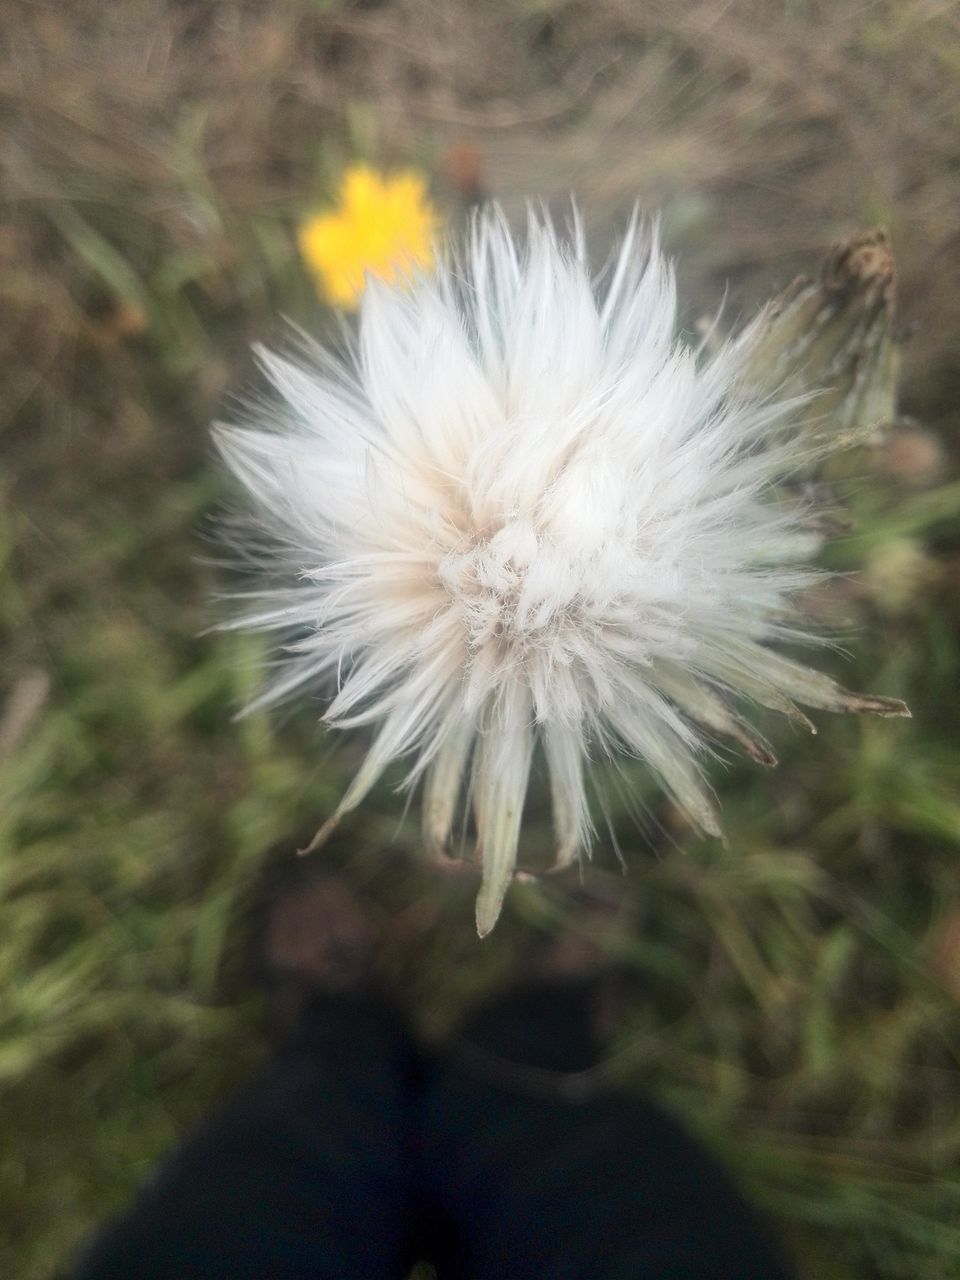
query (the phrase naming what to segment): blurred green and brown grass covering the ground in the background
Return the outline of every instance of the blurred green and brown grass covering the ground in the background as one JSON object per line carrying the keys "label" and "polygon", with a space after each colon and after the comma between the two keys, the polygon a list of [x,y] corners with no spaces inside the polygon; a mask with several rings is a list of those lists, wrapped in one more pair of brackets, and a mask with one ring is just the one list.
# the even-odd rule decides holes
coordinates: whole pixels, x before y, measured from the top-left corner
{"label": "blurred green and brown grass covering the ground in the background", "polygon": [[[634,204],[685,324],[753,314],[877,223],[902,411],[845,460],[812,607],[914,719],[771,724],[716,771],[730,847],[608,771],[614,1064],[675,1105],[809,1280],[960,1275],[960,40],[938,0],[8,0],[0,58],[0,1272],[35,1280],[264,1053],[244,961],[262,850],[358,758],[317,707],[233,723],[256,641],[205,634],[224,498],[207,425],[251,340],[335,323],[297,255],[348,163],[415,165],[451,221]],[[506,980],[568,881],[472,932],[383,788],[343,850],[428,1033]],[[532,805],[536,858],[549,838]],[[635,815],[640,817],[639,826]],[[573,925],[575,927],[575,925]],[[637,1153],[643,1158],[643,1153]]]}

